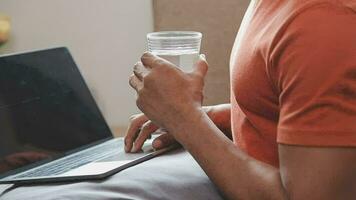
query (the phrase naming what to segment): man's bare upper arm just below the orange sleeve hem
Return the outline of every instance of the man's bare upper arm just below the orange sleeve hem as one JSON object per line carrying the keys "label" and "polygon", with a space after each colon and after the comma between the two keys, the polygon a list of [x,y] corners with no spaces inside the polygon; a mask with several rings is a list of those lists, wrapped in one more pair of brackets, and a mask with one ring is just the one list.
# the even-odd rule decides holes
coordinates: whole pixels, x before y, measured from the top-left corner
{"label": "man's bare upper arm just below the orange sleeve hem", "polygon": [[280,145],[279,156],[291,199],[355,199],[355,148]]}

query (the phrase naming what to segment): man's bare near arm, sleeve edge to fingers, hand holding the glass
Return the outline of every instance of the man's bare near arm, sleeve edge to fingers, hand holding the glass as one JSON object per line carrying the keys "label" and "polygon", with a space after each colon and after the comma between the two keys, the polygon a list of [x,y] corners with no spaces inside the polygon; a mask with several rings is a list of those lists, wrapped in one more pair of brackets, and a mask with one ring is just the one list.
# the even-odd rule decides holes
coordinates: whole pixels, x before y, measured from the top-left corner
{"label": "man's bare near arm, sleeve edge to fingers, hand holding the glass", "polygon": [[[354,148],[279,145],[280,169],[257,161],[203,111],[204,58],[191,73],[149,53],[141,60],[130,77],[137,106],[193,155],[227,199],[328,200],[356,195]],[[148,72],[143,73],[143,67]]]}

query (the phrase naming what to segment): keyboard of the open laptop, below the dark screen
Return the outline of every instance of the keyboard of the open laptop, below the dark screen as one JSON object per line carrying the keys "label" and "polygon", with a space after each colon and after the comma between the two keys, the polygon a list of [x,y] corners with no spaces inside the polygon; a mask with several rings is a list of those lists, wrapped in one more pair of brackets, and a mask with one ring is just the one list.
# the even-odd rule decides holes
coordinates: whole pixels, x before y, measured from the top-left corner
{"label": "keyboard of the open laptop, below the dark screen", "polygon": [[90,162],[100,160],[108,156],[114,156],[115,154],[122,153],[122,151],[122,139],[109,140],[103,144],[52,161],[40,167],[36,167],[19,175],[13,176],[12,178],[17,179],[25,177],[55,176]]}

